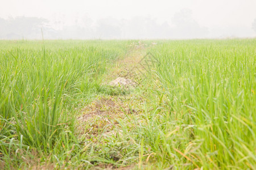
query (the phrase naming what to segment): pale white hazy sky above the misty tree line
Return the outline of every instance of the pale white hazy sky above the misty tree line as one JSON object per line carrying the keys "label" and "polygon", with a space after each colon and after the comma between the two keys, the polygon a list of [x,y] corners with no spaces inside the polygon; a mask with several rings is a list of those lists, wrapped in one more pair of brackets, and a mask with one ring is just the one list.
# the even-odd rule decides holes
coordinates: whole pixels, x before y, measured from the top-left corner
{"label": "pale white hazy sky above the misty tree line", "polygon": [[[77,19],[99,20],[102,18],[131,19],[148,16],[161,24],[172,25],[172,19],[179,11],[191,11],[193,20],[201,27],[209,28],[214,36],[233,31],[234,35],[255,36],[252,23],[256,18],[256,0],[0,0],[0,18],[10,16],[33,16],[46,18],[53,24],[61,21],[72,25]],[[233,29],[234,28],[234,29]],[[232,29],[232,30],[229,30]],[[236,31],[237,30],[237,31]],[[222,32],[221,32],[222,31]],[[247,32],[244,33],[243,32]]]}

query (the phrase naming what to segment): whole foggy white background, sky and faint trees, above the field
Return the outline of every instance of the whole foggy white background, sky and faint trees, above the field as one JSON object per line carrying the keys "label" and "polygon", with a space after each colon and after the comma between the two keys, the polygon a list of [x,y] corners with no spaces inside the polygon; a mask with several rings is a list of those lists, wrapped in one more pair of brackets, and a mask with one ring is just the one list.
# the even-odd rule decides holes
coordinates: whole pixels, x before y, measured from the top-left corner
{"label": "whole foggy white background, sky and faint trees, above the field", "polygon": [[0,0],[0,39],[256,37],[255,0]]}

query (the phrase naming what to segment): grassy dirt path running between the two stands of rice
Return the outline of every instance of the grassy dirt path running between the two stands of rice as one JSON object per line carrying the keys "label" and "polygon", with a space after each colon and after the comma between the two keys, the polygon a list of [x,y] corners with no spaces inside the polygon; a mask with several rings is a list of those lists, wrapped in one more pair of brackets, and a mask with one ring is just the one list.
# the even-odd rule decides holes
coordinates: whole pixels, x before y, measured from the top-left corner
{"label": "grassy dirt path running between the two stands of rice", "polygon": [[[147,51],[145,46],[141,42],[132,44],[130,52],[109,67],[98,97],[77,117],[77,136],[85,148],[91,148],[92,157],[96,159],[97,165],[92,169],[133,169],[137,166],[139,155],[135,153],[127,159],[117,145],[126,143],[131,150],[126,154],[131,154],[132,148],[138,147],[138,143],[127,133],[141,124],[145,109],[151,109],[145,108],[145,104],[153,102],[147,101],[150,98],[146,87],[151,87],[152,83],[144,77],[144,73],[147,73],[142,65]],[[136,86],[110,86],[110,82],[117,78],[130,79]],[[95,159],[92,159],[93,162]]]}

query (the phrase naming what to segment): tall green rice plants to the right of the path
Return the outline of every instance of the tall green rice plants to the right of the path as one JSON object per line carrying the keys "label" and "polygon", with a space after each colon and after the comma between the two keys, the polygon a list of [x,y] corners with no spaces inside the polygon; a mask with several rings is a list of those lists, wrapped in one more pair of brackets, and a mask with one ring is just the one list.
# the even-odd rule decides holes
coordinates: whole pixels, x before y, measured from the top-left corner
{"label": "tall green rice plants to the right of the path", "polygon": [[163,151],[195,168],[255,167],[255,44],[254,39],[170,41],[152,51],[160,62],[159,92],[167,96],[166,111],[153,120],[153,127],[164,126],[155,133],[166,141],[175,126],[183,129],[174,138],[183,142],[164,142]]}

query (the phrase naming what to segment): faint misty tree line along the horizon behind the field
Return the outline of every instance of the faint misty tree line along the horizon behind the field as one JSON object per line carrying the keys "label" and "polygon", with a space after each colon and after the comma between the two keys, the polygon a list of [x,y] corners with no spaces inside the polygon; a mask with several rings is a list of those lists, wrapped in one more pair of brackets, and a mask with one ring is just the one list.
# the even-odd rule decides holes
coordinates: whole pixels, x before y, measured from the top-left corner
{"label": "faint misty tree line along the horizon behind the field", "polygon": [[[254,22],[256,23],[256,22]],[[168,22],[157,23],[150,16],[131,19],[77,19],[72,25],[51,23],[44,18],[18,16],[0,18],[0,39],[204,39],[255,37],[252,27],[209,28],[191,17],[190,11],[180,11]]]}

